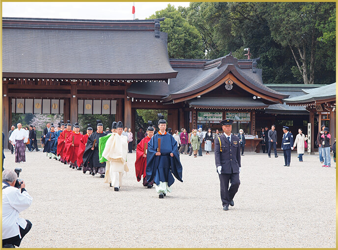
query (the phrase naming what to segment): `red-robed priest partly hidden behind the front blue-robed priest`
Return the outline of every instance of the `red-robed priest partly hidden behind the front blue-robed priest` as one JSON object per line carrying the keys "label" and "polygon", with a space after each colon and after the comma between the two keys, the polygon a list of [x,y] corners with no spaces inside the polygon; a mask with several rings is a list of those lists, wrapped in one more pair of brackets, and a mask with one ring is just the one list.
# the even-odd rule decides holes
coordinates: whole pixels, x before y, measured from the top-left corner
{"label": "red-robed priest partly hidden behind the front blue-robed priest", "polygon": [[148,142],[151,137],[154,135],[154,128],[150,125],[147,129],[147,136],[144,137],[141,142],[137,145],[136,148],[136,161],[135,161],[135,173],[138,182],[141,181],[143,176],[143,187],[152,188],[154,185],[154,180],[147,182],[145,168],[147,166],[147,148]]}

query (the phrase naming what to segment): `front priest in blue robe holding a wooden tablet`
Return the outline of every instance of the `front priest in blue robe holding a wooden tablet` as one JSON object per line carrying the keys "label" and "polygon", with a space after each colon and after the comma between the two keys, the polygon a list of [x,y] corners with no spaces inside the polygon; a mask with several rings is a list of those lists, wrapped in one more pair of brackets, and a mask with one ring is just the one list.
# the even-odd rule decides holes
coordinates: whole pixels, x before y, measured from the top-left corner
{"label": "front priest in blue robe holding a wooden tablet", "polygon": [[[147,182],[154,180],[155,189],[159,198],[164,198],[171,192],[171,185],[174,183],[173,176],[182,181],[182,165],[179,158],[177,141],[171,134],[166,132],[167,122],[164,117],[158,123],[160,131],[151,137],[147,149]],[[172,176],[173,175],[173,176]]]}

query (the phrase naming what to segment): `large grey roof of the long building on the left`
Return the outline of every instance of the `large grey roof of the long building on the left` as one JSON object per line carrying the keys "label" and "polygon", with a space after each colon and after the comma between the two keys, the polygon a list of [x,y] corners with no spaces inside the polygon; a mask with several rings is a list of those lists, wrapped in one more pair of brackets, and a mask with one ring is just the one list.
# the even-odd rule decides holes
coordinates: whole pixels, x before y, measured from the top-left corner
{"label": "large grey roof of the long building on the left", "polygon": [[159,21],[3,18],[3,76],[175,77],[177,72],[168,58],[167,33],[157,31],[156,23]]}

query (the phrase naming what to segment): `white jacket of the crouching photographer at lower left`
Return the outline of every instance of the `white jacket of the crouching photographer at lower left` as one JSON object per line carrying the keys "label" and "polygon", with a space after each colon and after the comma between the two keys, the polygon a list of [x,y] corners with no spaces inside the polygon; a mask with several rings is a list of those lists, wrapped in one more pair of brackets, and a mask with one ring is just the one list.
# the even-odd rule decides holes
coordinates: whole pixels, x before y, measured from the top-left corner
{"label": "white jacket of the crouching photographer at lower left", "polygon": [[[8,186],[2,183],[2,188]],[[27,221],[19,218],[19,213],[27,209],[33,198],[26,189],[7,187],[2,189],[2,239],[8,239],[20,235],[19,225],[26,228]]]}

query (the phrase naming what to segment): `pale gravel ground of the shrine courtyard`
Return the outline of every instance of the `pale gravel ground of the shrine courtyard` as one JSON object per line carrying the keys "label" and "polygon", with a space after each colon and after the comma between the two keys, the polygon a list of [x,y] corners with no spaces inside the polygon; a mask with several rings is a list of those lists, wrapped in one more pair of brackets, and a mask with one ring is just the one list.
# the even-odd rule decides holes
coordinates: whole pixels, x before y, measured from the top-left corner
{"label": "pale gravel ground of the shrine courtyard", "polygon": [[[204,153],[203,153],[204,154]],[[181,155],[183,183],[159,199],[135,177],[135,152],[119,192],[44,153],[27,152],[21,167],[33,197],[20,214],[33,226],[21,248],[335,248],[336,164],[318,155],[291,167],[267,154],[242,157],[234,207],[223,211],[213,153]]]}

